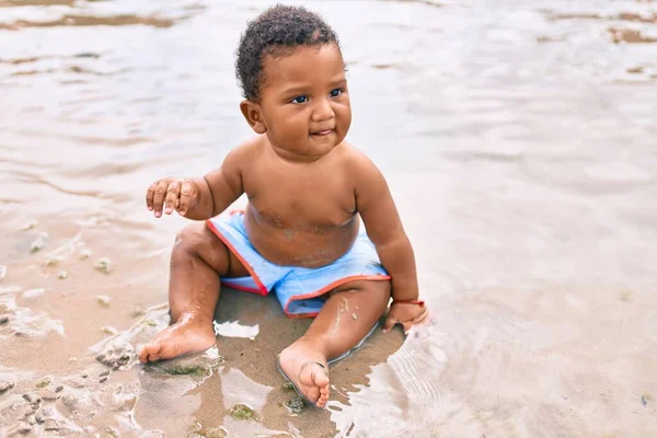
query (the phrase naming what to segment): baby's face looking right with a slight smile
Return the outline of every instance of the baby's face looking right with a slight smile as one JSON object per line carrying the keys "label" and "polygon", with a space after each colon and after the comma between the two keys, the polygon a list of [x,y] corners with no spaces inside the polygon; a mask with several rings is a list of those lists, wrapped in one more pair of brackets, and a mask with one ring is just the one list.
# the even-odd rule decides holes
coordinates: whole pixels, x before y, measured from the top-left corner
{"label": "baby's face looking right with a slight smile", "polygon": [[351,124],[342,54],[335,44],[296,47],[264,61],[261,107],[272,145],[290,160],[314,160]]}

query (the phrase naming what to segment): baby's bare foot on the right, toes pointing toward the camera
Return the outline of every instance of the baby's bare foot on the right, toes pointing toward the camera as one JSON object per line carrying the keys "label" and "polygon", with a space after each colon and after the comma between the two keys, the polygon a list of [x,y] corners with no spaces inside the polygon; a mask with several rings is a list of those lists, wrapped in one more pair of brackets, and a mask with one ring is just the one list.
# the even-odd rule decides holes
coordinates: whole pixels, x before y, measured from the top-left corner
{"label": "baby's bare foot on the right, toes pointing toward the camera", "polygon": [[328,401],[328,371],[320,364],[326,358],[308,346],[295,343],[283,350],[280,367],[297,389],[318,407],[324,407]]}

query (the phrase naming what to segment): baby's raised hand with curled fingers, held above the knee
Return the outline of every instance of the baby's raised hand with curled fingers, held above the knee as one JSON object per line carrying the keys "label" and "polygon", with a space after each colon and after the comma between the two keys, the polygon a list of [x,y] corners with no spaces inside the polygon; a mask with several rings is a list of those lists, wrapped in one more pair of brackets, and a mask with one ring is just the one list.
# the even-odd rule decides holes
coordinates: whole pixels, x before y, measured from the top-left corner
{"label": "baby's raised hand with curled fingers, held above the knee", "polygon": [[155,210],[155,218],[162,216],[162,207],[166,215],[175,209],[185,216],[197,204],[198,187],[192,180],[165,177],[152,183],[146,193],[146,205],[149,211]]}

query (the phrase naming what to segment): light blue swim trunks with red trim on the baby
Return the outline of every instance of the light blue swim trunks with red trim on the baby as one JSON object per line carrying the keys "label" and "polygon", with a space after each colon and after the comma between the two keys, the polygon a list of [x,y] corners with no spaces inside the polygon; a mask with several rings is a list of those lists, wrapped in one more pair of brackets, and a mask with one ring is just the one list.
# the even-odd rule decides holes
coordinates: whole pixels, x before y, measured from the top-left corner
{"label": "light blue swim trunks with red trim on the baby", "polygon": [[207,224],[251,274],[250,277],[222,278],[221,283],[262,296],[274,290],[285,314],[291,318],[315,316],[324,304],[320,296],[338,286],[355,280],[390,279],[362,228],[345,255],[328,266],[310,269],[275,265],[263,257],[246,237],[243,211],[222,214],[209,219]]}

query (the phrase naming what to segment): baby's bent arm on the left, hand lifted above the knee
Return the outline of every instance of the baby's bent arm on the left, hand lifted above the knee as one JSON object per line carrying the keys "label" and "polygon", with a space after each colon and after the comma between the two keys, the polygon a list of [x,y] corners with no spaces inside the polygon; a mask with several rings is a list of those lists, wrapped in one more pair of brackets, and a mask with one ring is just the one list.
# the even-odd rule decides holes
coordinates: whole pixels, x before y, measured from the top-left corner
{"label": "baby's bent arm on the left, hand lifted above the knee", "polygon": [[149,210],[155,217],[175,209],[193,220],[206,220],[222,212],[243,193],[242,163],[247,147],[228,153],[221,166],[197,178],[165,177],[151,184],[146,195]]}

